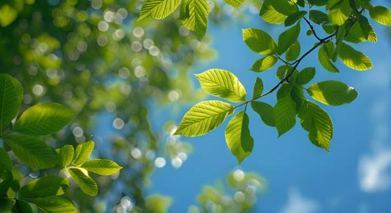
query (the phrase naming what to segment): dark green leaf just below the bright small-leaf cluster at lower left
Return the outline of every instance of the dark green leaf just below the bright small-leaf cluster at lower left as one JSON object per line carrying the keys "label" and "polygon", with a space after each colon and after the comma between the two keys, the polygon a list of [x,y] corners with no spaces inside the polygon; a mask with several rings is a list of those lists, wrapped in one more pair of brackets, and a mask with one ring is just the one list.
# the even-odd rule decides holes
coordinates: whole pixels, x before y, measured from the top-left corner
{"label": "dark green leaf just below the bright small-leaf cluster at lower left", "polygon": [[46,176],[29,181],[26,186],[20,188],[20,198],[45,198],[48,196],[62,195],[69,188],[67,179],[58,176]]}

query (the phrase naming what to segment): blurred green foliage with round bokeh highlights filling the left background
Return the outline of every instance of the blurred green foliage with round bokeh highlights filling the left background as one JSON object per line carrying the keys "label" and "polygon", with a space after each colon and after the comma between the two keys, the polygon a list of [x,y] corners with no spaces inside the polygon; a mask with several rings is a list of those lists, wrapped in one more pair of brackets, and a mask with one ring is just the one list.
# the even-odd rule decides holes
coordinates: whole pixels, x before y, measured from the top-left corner
{"label": "blurred green foliage with round bokeh highlights filling the left background", "polygon": [[[151,103],[152,108],[169,103],[177,109],[182,102],[203,97],[203,92],[194,92],[188,72],[194,62],[207,62],[217,54],[209,47],[211,36],[197,41],[178,20],[136,22],[142,4],[0,2],[1,73],[22,83],[21,111],[39,102],[64,104],[77,116],[46,141],[59,148],[93,139],[94,158],[111,158],[124,166],[111,177],[92,175],[100,186],[95,198],[71,184],[67,196],[81,212],[165,212],[171,200],[161,195],[145,198],[143,188],[154,167],[163,167],[166,160],[180,167],[191,151],[190,144],[173,136],[174,123],[167,123],[164,130],[152,129],[149,109]],[[209,20],[216,25],[232,17],[245,18],[222,1],[211,5]],[[110,134],[102,135],[102,125],[111,126]],[[44,175],[12,160],[23,183]]]}

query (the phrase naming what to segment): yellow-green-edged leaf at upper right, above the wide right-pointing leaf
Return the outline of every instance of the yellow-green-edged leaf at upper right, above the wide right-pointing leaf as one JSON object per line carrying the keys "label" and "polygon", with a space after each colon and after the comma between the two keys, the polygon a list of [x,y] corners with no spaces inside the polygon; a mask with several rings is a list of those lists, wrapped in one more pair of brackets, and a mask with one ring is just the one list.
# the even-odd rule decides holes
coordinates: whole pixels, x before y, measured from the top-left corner
{"label": "yellow-green-edged leaf at upper right, above the wide right-pointing leaf", "polygon": [[339,53],[340,60],[351,69],[364,71],[372,69],[373,65],[369,57],[357,50],[354,50],[351,46],[342,43]]}

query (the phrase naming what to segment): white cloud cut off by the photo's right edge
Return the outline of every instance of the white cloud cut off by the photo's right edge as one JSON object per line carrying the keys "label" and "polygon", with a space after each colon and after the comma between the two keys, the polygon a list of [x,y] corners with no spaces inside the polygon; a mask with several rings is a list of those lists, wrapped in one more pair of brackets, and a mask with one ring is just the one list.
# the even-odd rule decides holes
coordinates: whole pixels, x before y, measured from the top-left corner
{"label": "white cloud cut off by the photo's right edge", "polygon": [[385,191],[391,186],[389,171],[391,168],[391,150],[378,151],[373,156],[364,156],[359,160],[359,184],[362,191]]}

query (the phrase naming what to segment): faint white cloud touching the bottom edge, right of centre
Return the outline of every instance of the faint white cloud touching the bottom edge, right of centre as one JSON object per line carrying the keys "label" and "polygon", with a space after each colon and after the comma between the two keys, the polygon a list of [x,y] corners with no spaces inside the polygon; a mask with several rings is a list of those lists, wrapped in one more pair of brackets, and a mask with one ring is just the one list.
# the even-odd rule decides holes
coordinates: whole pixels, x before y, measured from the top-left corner
{"label": "faint white cloud touching the bottom edge, right of centre", "polygon": [[319,210],[319,203],[310,198],[304,198],[300,191],[292,188],[288,193],[288,202],[281,209],[281,213],[314,213]]}

